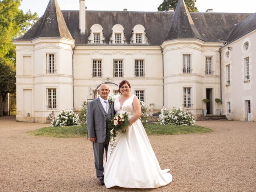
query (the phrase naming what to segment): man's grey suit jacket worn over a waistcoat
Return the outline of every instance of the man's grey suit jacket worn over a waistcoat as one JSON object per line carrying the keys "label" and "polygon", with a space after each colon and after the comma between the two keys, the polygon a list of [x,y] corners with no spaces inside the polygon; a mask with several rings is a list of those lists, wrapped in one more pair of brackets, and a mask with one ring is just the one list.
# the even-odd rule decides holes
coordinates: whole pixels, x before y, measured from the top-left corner
{"label": "man's grey suit jacket worn over a waistcoat", "polygon": [[[109,101],[108,101],[109,102]],[[114,106],[110,105],[112,116],[114,116]],[[106,140],[107,123],[105,110],[102,107],[100,98],[88,102],[86,112],[86,124],[89,138],[96,137],[96,142],[103,143]]]}

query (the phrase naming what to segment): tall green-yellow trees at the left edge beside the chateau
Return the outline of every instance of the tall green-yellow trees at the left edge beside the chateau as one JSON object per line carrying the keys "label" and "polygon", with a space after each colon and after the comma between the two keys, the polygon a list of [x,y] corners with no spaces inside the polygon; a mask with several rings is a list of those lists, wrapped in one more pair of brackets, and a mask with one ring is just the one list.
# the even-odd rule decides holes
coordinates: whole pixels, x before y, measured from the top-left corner
{"label": "tall green-yellow trees at the left edge beside the chateau", "polygon": [[19,10],[22,0],[0,1],[0,116],[8,92],[15,92],[16,51],[12,39],[24,34],[38,20],[36,13]]}

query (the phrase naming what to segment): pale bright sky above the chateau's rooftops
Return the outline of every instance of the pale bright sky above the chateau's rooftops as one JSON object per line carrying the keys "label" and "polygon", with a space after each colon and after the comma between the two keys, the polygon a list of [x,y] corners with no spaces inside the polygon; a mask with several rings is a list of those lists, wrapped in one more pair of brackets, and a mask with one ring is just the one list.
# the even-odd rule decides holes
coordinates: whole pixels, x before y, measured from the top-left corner
{"label": "pale bright sky above the chateau's rooftops", "polygon": [[[49,0],[23,0],[20,9],[42,16]],[[87,10],[122,11],[157,11],[163,0],[85,0]],[[79,0],[58,0],[61,10],[79,10]],[[213,12],[255,13],[256,0],[197,0],[199,12],[213,9]]]}

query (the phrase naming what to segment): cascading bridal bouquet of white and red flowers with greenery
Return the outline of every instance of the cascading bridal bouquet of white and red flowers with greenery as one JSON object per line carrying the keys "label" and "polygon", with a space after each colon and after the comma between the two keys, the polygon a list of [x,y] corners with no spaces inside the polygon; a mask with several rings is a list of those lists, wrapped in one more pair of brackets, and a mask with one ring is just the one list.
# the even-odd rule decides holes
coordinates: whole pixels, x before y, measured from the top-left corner
{"label": "cascading bridal bouquet of white and red flowers with greenery", "polygon": [[112,154],[114,148],[116,147],[116,136],[118,132],[124,133],[126,127],[129,125],[128,115],[124,114],[115,114],[112,120],[108,124],[108,138],[110,141],[111,152]]}

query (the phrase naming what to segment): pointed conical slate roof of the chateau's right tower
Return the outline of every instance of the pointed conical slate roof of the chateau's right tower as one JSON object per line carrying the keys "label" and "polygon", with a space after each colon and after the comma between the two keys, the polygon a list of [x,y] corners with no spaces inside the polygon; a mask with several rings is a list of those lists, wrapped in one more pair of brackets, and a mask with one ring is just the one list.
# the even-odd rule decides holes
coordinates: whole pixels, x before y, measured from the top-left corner
{"label": "pointed conical slate roof of the chateau's right tower", "polygon": [[172,18],[171,27],[165,40],[176,38],[202,39],[188,12],[184,0],[179,0]]}

